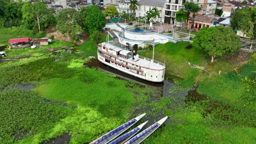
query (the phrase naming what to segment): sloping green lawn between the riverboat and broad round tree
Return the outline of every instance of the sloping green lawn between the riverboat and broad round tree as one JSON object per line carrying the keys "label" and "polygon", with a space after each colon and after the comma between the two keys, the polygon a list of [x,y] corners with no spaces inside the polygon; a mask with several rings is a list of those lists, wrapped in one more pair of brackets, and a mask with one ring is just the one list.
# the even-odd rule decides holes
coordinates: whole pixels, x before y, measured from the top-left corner
{"label": "sloping green lawn between the riverboat and broad round tree", "polygon": [[[155,45],[154,57],[157,61],[165,62],[166,74],[184,78],[191,69],[187,62],[200,65],[207,63],[207,60],[202,58],[201,52],[195,49],[185,49],[188,44],[183,41],[177,44],[168,42]],[[146,51],[139,55],[152,58],[153,51]]]}

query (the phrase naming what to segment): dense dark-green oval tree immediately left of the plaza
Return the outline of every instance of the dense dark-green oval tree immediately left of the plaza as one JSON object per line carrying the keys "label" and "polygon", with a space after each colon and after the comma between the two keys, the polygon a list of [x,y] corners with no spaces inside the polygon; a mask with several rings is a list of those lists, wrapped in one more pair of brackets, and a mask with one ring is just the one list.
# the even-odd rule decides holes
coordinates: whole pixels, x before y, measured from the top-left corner
{"label": "dense dark-green oval tree immediately left of the plaza", "polygon": [[91,5],[89,7],[84,25],[86,26],[86,30],[89,34],[92,34],[94,31],[99,31],[106,25],[106,17],[97,5]]}

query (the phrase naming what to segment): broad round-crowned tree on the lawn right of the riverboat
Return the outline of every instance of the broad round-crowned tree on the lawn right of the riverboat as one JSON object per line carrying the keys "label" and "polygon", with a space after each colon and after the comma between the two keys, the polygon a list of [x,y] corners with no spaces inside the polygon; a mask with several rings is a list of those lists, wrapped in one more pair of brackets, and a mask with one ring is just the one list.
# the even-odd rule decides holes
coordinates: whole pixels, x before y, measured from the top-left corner
{"label": "broad round-crowned tree on the lawn right of the riverboat", "polygon": [[193,45],[197,49],[205,51],[212,57],[211,62],[217,56],[234,55],[241,49],[241,41],[231,28],[223,26],[203,27],[196,33]]}

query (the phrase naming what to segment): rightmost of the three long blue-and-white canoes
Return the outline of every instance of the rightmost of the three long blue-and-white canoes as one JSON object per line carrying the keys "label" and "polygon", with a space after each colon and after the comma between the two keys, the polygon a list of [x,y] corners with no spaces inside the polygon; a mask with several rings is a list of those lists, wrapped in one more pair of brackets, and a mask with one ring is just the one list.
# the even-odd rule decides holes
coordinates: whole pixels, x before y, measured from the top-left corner
{"label": "rightmost of the three long blue-and-white canoes", "polygon": [[132,137],[129,141],[125,142],[125,144],[138,144],[141,143],[143,140],[145,140],[149,135],[151,135],[156,129],[160,127],[162,123],[166,121],[168,117],[162,118],[160,121],[152,124],[150,127],[147,129],[143,130],[141,133],[137,134],[136,136]]}

